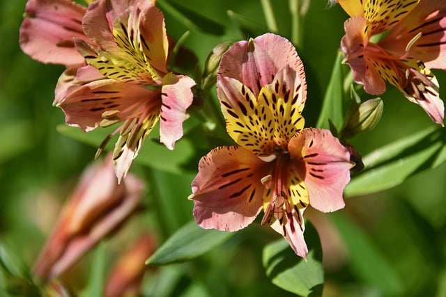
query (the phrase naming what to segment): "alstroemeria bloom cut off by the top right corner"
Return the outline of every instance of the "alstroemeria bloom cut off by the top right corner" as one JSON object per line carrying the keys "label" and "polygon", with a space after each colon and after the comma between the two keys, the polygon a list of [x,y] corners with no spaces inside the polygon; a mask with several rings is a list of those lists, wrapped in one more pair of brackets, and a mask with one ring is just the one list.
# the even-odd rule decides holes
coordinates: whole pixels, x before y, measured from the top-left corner
{"label": "alstroemeria bloom cut off by the top right corner", "polygon": [[[446,69],[446,1],[338,2],[351,16],[344,24],[341,47],[353,79],[371,95],[383,94],[385,81],[391,83],[443,125],[445,107],[429,68]],[[384,32],[379,42],[370,41]]]}

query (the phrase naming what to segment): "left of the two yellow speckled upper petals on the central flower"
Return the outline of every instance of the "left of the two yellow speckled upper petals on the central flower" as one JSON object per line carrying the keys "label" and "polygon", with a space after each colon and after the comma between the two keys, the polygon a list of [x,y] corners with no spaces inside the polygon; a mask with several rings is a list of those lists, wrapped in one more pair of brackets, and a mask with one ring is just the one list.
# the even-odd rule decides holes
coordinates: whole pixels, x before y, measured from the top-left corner
{"label": "left of the two yellow speckled upper petals on the central flower", "polygon": [[229,136],[254,154],[272,154],[275,122],[270,109],[257,104],[249,88],[229,77],[217,81],[217,94]]}

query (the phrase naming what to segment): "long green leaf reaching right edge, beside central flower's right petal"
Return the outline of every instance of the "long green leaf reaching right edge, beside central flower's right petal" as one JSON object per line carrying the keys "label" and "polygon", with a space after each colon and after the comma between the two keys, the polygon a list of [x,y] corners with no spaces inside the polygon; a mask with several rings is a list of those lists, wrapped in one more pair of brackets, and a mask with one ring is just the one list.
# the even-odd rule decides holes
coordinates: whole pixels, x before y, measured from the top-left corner
{"label": "long green leaf reaching right edge, beside central flower's right petal", "polygon": [[353,177],[344,195],[366,195],[403,183],[446,161],[446,132],[433,127],[401,138],[364,156],[365,170]]}

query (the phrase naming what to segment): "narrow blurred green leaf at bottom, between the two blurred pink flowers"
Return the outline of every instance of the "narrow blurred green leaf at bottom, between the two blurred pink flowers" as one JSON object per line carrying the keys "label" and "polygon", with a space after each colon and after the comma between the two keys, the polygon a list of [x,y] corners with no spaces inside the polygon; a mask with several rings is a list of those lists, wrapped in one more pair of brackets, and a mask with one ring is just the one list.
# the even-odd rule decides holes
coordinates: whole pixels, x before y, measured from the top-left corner
{"label": "narrow blurred green leaf at bottom, between the two blurred pink flowers", "polygon": [[93,262],[91,263],[89,283],[79,294],[80,297],[102,296],[105,279],[105,266],[107,264],[107,249],[105,243],[101,242],[95,248]]}

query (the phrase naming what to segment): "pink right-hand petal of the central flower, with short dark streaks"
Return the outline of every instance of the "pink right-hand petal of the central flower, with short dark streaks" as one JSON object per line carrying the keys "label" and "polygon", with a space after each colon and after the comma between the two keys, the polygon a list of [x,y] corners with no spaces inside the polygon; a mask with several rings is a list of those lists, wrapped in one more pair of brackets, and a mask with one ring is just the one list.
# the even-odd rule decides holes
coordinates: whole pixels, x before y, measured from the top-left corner
{"label": "pink right-hand petal of the central flower, with short dark streaks", "polygon": [[289,143],[291,158],[299,161],[309,203],[323,212],[344,207],[342,192],[350,181],[350,154],[329,130],[307,128]]}

